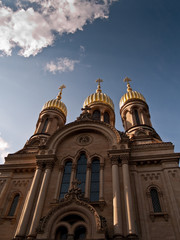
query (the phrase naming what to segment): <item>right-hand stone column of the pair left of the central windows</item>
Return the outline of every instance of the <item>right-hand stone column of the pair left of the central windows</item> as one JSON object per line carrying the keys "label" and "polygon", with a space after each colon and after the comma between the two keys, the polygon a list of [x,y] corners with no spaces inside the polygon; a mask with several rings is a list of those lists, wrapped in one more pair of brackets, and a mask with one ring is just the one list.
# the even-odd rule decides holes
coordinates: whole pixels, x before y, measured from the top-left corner
{"label": "right-hand stone column of the pair left of the central windows", "polygon": [[36,203],[31,227],[30,227],[29,234],[28,234],[28,239],[33,239],[33,237],[35,238],[35,236],[36,236],[36,228],[38,227],[39,220],[41,218],[42,209],[43,209],[44,200],[45,200],[45,197],[46,197],[46,192],[47,192],[48,183],[49,183],[49,179],[50,179],[50,176],[51,176],[51,170],[52,170],[53,164],[54,164],[53,161],[48,161],[46,163],[46,168],[45,168],[45,171],[44,171],[44,176],[43,176],[41,188],[40,188],[40,191],[39,191],[38,200],[37,200],[37,203]]}

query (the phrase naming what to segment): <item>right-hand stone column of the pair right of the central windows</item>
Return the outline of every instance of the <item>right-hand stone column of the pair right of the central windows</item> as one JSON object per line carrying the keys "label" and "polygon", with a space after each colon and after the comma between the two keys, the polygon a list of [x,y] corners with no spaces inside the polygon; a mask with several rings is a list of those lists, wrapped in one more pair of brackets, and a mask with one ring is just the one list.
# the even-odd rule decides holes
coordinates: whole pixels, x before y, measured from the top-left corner
{"label": "right-hand stone column of the pair right of the central windows", "polygon": [[[124,157],[123,157],[124,158]],[[124,199],[126,207],[126,226],[128,236],[136,236],[135,218],[132,204],[132,194],[129,176],[128,157],[122,160],[122,173],[123,173],[123,185],[124,185]],[[122,159],[122,158],[121,158]]]}

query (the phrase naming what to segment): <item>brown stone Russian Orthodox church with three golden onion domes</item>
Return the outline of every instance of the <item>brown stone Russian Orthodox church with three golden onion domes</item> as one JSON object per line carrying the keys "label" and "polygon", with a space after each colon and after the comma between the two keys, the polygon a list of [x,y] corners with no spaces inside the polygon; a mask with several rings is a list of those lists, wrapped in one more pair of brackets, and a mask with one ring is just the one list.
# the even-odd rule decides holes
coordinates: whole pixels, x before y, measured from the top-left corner
{"label": "brown stone Russian Orthodox church with three golden onion domes", "polygon": [[0,165],[1,240],[179,240],[179,153],[151,124],[144,96],[101,90],[66,124],[62,86],[35,133]]}

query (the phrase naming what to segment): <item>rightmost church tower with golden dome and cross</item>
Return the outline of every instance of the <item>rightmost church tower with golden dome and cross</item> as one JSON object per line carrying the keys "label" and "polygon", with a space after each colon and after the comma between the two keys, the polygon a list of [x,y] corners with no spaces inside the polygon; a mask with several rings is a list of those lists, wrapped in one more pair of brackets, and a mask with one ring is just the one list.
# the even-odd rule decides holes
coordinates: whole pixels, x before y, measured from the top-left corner
{"label": "rightmost church tower with golden dome and cross", "polygon": [[151,124],[149,107],[144,96],[133,91],[130,82],[131,79],[125,78],[127,82],[127,93],[125,93],[119,103],[120,115],[123,122],[123,127],[127,135],[133,139],[138,136],[150,138],[153,141],[161,141],[161,138],[156,133]]}

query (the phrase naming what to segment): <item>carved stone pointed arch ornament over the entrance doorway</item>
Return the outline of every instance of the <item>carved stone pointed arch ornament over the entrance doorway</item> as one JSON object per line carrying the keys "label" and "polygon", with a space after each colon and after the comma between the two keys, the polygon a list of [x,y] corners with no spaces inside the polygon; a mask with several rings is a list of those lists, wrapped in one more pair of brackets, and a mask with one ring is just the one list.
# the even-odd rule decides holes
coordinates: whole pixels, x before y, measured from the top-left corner
{"label": "carved stone pointed arch ornament over the entrance doorway", "polygon": [[42,217],[39,222],[39,226],[36,229],[37,233],[44,233],[46,225],[49,219],[59,210],[65,206],[69,206],[72,203],[77,204],[78,206],[82,206],[83,208],[88,209],[91,214],[94,215],[96,226],[98,232],[105,232],[106,230],[106,221],[105,218],[101,217],[96,209],[88,203],[88,200],[84,198],[82,191],[78,188],[78,182],[75,182],[72,188],[65,194],[64,198],[60,200],[58,206],[56,205],[54,208],[50,210],[50,212]]}

